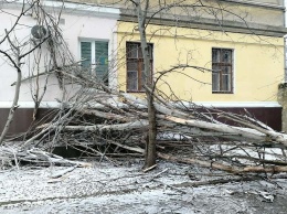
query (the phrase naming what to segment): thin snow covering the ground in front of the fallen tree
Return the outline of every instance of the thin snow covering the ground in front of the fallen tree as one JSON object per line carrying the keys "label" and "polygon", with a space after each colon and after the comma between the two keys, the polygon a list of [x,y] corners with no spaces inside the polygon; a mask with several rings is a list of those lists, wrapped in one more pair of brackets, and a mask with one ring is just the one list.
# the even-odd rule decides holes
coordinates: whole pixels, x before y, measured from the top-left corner
{"label": "thin snow covering the ground in front of the fallen tree", "polygon": [[[0,171],[0,213],[287,213],[285,180],[176,188],[223,178],[222,172],[160,161],[144,173],[141,165],[140,160],[120,167],[93,163],[56,179],[67,168]],[[273,203],[265,202],[263,192],[275,196]]]}

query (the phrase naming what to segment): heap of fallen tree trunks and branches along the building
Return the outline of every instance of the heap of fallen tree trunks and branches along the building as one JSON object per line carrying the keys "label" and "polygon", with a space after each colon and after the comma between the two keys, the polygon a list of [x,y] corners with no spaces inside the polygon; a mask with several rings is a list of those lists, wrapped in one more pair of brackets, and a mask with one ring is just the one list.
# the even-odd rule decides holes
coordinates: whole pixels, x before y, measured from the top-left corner
{"label": "heap of fallen tree trunks and branches along the building", "polygon": [[[60,100],[55,118],[38,126],[20,151],[62,146],[81,151],[79,157],[108,161],[145,156],[149,125],[145,98],[113,90],[83,73],[62,75],[82,84],[82,89],[70,100]],[[153,96],[158,158],[235,174],[287,172],[287,136],[247,113],[234,115]]]}

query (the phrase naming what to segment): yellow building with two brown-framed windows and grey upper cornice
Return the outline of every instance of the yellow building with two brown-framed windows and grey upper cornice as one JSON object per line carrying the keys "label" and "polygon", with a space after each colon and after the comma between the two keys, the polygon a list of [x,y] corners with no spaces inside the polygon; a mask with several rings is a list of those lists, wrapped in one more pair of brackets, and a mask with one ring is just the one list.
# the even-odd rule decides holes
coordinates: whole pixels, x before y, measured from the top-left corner
{"label": "yellow building with two brown-framed windows and grey upper cornice", "polygon": [[[149,13],[153,17],[146,32],[153,81],[160,77],[158,93],[235,113],[247,108],[280,129],[277,92],[284,81],[287,32],[283,1],[202,2],[208,10],[192,4]],[[123,9],[118,21],[118,87],[140,94],[142,56],[135,15],[135,10]],[[188,67],[174,68],[183,65]]]}

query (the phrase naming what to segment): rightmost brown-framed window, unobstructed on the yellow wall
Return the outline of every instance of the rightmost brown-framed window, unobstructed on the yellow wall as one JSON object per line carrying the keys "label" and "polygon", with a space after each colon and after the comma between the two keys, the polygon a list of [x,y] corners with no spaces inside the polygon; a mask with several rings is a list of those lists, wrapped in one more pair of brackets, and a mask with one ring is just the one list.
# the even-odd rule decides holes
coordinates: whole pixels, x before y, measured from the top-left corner
{"label": "rightmost brown-framed window, unobstructed on the yellow wall", "polygon": [[233,93],[233,50],[212,49],[212,93]]}

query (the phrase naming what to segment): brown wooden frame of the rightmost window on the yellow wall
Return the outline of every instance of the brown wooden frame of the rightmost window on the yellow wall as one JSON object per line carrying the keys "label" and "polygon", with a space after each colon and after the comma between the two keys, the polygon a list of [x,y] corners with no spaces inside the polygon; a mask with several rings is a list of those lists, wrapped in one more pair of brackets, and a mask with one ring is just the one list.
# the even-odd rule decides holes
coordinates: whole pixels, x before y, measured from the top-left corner
{"label": "brown wooden frame of the rightmost window on the yellow wall", "polygon": [[[213,53],[215,51],[220,51],[220,61],[219,62],[214,62],[213,58],[214,58],[214,55]],[[224,57],[224,54],[223,52],[224,51],[228,51],[231,52],[230,54],[230,62],[224,62],[223,57]],[[223,49],[223,47],[212,47],[212,94],[234,94],[234,50],[233,49]],[[219,78],[219,89],[213,89],[214,88],[214,74],[216,74],[214,67],[217,66],[220,67],[220,73],[217,75],[217,78]],[[228,68],[230,69],[230,73],[226,72],[224,73],[223,71],[223,67],[224,68]],[[224,84],[224,75],[228,77],[228,83],[227,84]],[[224,89],[224,88],[230,88],[230,89]]]}

